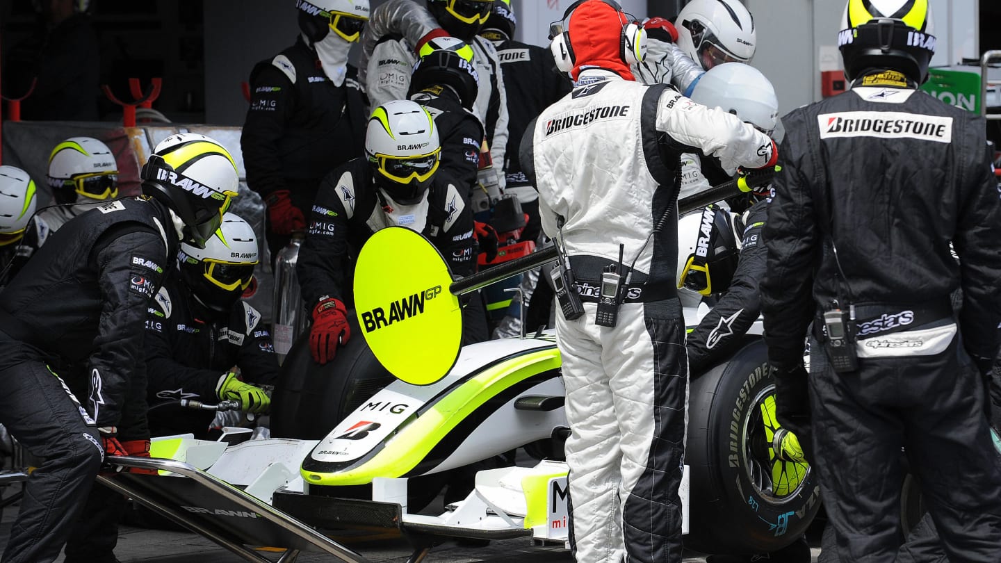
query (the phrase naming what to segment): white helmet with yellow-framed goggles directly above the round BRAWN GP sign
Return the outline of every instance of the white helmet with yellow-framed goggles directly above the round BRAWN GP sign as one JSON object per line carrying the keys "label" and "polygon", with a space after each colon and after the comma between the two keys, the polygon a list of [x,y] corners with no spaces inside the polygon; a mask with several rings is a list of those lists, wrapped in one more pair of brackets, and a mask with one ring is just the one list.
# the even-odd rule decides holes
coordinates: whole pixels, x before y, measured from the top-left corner
{"label": "white helmet with yellow-framed goggles directly above the round BRAWN GP sign", "polygon": [[365,131],[365,156],[376,184],[397,203],[412,205],[423,196],[441,155],[434,118],[409,100],[386,102],[372,111]]}

